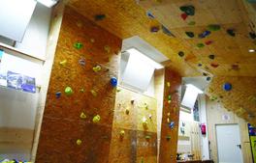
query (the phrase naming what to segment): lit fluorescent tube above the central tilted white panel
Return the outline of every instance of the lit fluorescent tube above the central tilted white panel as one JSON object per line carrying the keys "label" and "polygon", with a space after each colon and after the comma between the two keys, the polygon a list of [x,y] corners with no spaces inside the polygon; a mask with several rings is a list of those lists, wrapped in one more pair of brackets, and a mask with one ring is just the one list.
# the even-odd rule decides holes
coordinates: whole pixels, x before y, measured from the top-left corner
{"label": "lit fluorescent tube above the central tilted white panel", "polygon": [[131,55],[135,55],[136,58],[138,58],[138,60],[144,61],[146,63],[148,63],[149,65],[151,65],[153,68],[156,69],[161,69],[164,68],[162,65],[160,65],[159,63],[153,61],[152,59],[146,57],[142,52],[140,52],[139,50],[137,50],[136,48],[131,48],[126,50],[128,53],[130,53]]}

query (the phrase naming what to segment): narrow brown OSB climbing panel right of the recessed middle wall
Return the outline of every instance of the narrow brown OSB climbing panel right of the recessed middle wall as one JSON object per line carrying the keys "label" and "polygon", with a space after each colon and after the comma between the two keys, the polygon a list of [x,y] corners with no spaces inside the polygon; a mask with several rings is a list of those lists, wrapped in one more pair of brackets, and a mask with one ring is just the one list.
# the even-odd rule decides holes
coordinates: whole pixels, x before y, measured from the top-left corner
{"label": "narrow brown OSB climbing panel right of the recessed middle wall", "polygon": [[[170,82],[170,87],[168,86]],[[177,91],[181,85],[181,77],[170,68],[165,68],[165,85],[164,85],[164,107],[161,128],[161,142],[159,162],[171,163],[176,162],[177,134],[179,120],[179,95]],[[172,95],[172,102],[168,102],[168,96]],[[170,128],[170,122],[175,122],[174,128]],[[171,139],[168,140],[167,137]]]}

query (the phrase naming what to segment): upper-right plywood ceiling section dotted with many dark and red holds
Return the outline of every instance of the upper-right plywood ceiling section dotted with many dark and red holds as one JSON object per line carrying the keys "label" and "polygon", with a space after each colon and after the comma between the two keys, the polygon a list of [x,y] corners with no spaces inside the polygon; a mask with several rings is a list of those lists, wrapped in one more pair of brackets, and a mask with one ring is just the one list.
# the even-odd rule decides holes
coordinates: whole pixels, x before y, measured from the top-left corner
{"label": "upper-right plywood ceiling section dotted with many dark and red holds", "polygon": [[[160,3],[154,0],[140,1],[145,10],[150,11],[159,22],[167,26],[177,39],[182,40],[179,50],[184,51],[184,62],[189,63],[193,68],[207,70],[215,75],[228,76],[255,76],[256,57],[248,53],[248,49],[256,48],[255,40],[249,37],[249,32],[255,27],[252,16],[252,7],[238,0],[162,0]],[[188,16],[186,20],[180,17],[182,12],[179,7],[193,5],[195,15]],[[244,5],[246,8],[244,8]],[[172,12],[170,12],[172,11]],[[250,20],[251,19],[251,20]],[[195,21],[195,25],[188,23]],[[207,30],[209,24],[220,24],[221,30],[211,32],[205,39],[199,39],[198,35]],[[227,29],[234,29],[236,37],[227,34]],[[190,39],[185,32],[193,32],[195,38]],[[212,41],[204,48],[198,48],[197,43]],[[208,59],[208,55],[214,54],[215,59]],[[218,64],[217,68],[211,64]],[[232,65],[239,65],[240,69],[235,70]]]}

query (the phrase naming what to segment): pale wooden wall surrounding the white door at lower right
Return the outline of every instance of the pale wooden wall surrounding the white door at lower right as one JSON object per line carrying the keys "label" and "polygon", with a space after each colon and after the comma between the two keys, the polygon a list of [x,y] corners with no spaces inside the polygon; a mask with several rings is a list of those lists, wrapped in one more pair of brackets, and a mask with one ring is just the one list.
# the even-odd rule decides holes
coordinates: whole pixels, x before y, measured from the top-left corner
{"label": "pale wooden wall surrounding the white door at lower right", "polygon": [[221,103],[207,98],[208,140],[210,141],[210,157],[217,162],[216,124],[238,123],[240,126],[240,144],[244,163],[252,163],[247,122],[227,111]]}

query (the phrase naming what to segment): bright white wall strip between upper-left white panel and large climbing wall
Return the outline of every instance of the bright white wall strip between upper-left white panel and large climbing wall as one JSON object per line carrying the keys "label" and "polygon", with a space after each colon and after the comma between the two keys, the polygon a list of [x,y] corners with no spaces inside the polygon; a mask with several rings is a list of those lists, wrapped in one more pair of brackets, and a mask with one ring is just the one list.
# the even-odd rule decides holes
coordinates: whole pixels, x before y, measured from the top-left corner
{"label": "bright white wall strip between upper-left white panel and large climbing wall", "polygon": [[16,48],[29,55],[45,59],[51,9],[37,3],[23,40]]}

